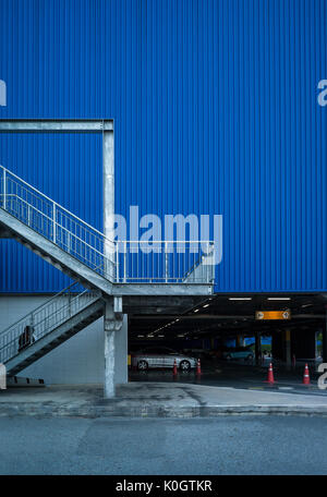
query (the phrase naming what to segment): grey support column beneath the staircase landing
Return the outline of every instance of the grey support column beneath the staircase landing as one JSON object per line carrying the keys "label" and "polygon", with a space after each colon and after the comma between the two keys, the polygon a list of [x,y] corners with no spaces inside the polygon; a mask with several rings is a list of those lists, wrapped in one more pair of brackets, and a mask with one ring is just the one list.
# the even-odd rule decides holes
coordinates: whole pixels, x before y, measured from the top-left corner
{"label": "grey support column beneath the staircase landing", "polygon": [[105,304],[105,398],[116,395],[118,384],[128,383],[128,319],[114,312],[113,298]]}

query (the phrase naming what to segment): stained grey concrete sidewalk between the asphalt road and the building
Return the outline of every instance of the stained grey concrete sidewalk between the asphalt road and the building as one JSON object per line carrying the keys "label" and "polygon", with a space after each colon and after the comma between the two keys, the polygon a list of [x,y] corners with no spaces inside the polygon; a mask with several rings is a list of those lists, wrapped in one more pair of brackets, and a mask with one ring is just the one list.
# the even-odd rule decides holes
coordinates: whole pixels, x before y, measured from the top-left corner
{"label": "stained grey concrete sidewalk between the asphalt road and the building", "polygon": [[327,395],[239,390],[190,384],[130,383],[104,399],[100,385],[0,390],[0,416],[202,417],[223,414],[327,415]]}

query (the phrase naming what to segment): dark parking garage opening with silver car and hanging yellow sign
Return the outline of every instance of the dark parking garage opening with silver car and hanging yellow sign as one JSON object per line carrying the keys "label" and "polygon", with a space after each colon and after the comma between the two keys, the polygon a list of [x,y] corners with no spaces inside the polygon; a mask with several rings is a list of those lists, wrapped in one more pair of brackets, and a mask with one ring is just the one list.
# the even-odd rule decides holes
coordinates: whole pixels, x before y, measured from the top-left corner
{"label": "dark parking garage opening with silver car and hanging yellow sign", "polygon": [[[130,381],[296,391],[305,364],[314,377],[324,360],[325,295],[219,294],[148,304],[129,310]],[[266,381],[270,363],[274,386]]]}

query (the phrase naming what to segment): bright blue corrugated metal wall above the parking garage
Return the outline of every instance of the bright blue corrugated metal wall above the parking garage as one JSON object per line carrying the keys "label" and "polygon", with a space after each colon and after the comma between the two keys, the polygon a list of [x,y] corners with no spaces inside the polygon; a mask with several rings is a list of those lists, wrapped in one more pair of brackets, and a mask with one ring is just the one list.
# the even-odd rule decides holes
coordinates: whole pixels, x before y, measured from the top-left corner
{"label": "bright blue corrugated metal wall above the parking garage", "polygon": [[[113,118],[118,213],[222,214],[217,291],[326,291],[326,15],[325,0],[0,0],[0,118]],[[95,137],[0,136],[0,162],[100,227]],[[0,251],[1,291],[61,287]]]}

